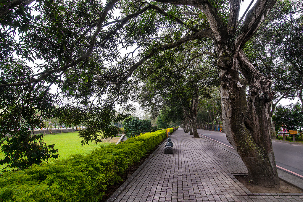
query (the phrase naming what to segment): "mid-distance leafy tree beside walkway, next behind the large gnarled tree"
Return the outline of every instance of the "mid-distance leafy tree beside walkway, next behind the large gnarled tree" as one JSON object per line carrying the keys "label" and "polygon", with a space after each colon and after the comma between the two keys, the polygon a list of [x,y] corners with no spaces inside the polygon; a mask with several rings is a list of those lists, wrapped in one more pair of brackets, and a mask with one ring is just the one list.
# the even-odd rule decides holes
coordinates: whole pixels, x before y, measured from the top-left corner
{"label": "mid-distance leafy tree beside walkway, next behind the large gnarled tree", "polygon": [[[201,41],[197,41],[194,48],[191,44],[184,45],[180,52],[171,51],[168,56],[151,58],[152,63],[144,65],[137,74],[145,83],[139,97],[142,105],[149,110],[155,110],[157,108],[155,106],[181,109],[182,127],[188,132],[189,126],[189,132],[194,138],[199,138],[197,132],[199,102],[202,98],[209,97],[209,89],[218,82],[215,76],[217,69],[213,68],[211,58],[213,54],[207,49],[197,54],[199,44],[201,48],[209,48],[207,45],[201,45]],[[159,67],[162,67],[161,71],[155,71]]]}

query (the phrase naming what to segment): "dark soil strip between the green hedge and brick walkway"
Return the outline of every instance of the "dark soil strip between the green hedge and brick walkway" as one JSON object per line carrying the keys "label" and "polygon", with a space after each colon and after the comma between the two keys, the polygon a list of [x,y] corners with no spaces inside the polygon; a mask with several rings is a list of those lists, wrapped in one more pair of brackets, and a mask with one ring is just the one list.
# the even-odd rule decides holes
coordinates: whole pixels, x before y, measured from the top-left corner
{"label": "dark soil strip between the green hedge and brick walkway", "polygon": [[[164,139],[163,141],[165,140],[166,139]],[[158,146],[161,145],[163,141],[160,144],[158,144]],[[154,150],[147,153],[146,156],[143,157],[139,162],[129,166],[128,169],[125,171],[125,173],[123,175],[120,175],[122,179],[121,182],[115,183],[114,185],[109,184],[106,187],[107,190],[105,192],[105,195],[102,197],[102,200],[100,200],[100,202],[105,202],[112,194],[114,194],[114,192],[128,179],[130,175],[132,175],[144,163],[144,161],[158,148],[158,146],[156,146]]]}

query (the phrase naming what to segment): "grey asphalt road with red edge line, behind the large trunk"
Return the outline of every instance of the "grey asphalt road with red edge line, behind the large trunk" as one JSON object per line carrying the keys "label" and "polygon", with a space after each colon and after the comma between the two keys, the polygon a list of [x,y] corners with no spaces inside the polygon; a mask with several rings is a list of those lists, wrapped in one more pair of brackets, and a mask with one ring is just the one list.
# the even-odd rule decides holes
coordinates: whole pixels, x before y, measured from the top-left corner
{"label": "grey asphalt road with red edge line, behind the large trunk", "polygon": [[[215,141],[223,143],[229,147],[232,147],[231,144],[227,141],[225,133],[220,133],[217,131],[206,131],[200,129],[198,129],[198,133],[206,137],[209,137]],[[275,154],[276,165],[279,169],[283,171],[287,171],[288,173],[291,173],[295,176],[298,175],[303,176],[303,146],[302,145],[272,141],[272,147]]]}

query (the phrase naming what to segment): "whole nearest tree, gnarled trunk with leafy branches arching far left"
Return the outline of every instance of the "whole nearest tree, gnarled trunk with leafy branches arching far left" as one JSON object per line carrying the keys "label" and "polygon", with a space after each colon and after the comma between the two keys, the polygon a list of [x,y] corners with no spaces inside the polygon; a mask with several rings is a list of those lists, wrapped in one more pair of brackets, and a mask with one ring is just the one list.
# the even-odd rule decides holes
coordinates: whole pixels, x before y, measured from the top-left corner
{"label": "whole nearest tree, gnarled trunk with leafy branches arching far left", "polygon": [[[7,53],[9,57],[4,57],[5,51],[1,53],[4,55],[2,64],[6,64],[2,71],[21,64],[13,52],[18,58],[29,61],[44,60],[43,64],[35,66],[35,71],[19,70],[24,73],[18,73],[21,77],[11,77],[15,73],[1,77],[0,88],[5,94],[2,96],[18,95],[15,102],[25,107],[15,111],[16,114],[27,113],[26,110],[37,105],[41,106],[41,114],[49,114],[43,106],[51,102],[43,102],[45,98],[64,103],[60,97],[48,93],[50,86],[56,84],[62,89],[61,95],[76,105],[85,109],[93,106],[93,112],[103,111],[103,116],[93,113],[88,120],[92,126],[88,137],[98,141],[100,127],[106,127],[102,129],[105,133],[114,134],[109,119],[116,113],[111,106],[125,104],[136,97],[134,94],[140,83],[132,76],[140,65],[152,64],[153,56],[168,56],[166,53],[171,50],[186,51],[199,41],[208,40],[214,47],[215,64],[219,69],[222,120],[228,141],[244,161],[249,180],[263,186],[279,186],[268,140],[271,117],[267,112],[273,99],[269,96],[272,80],[261,74],[242,50],[275,2],[257,0],[240,21],[241,0],[38,1],[32,7],[38,11],[34,17],[27,2],[1,2],[3,40],[0,40],[0,47],[12,48]],[[19,41],[14,38],[16,34]],[[122,49],[129,53],[120,54]],[[198,48],[197,51],[204,50]],[[163,59],[169,60],[168,57]],[[248,82],[247,97],[237,85],[242,77]],[[32,93],[37,96],[31,97]],[[261,99],[261,94],[266,99]],[[30,99],[34,99],[35,104],[29,105]],[[9,105],[4,107],[11,107]],[[20,125],[20,120],[17,118],[12,124]],[[245,155],[248,153],[251,154],[249,158]]]}

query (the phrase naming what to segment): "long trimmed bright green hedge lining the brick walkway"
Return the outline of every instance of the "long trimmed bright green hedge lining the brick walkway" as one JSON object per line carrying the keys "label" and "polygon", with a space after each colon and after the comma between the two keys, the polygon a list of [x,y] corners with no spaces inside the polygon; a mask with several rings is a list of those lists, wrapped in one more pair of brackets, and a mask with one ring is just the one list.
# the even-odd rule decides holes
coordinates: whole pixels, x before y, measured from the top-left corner
{"label": "long trimmed bright green hedge lining the brick walkway", "polygon": [[98,148],[88,155],[33,165],[0,177],[0,201],[99,201],[106,186],[155,148],[166,131],[140,134],[125,143]]}

